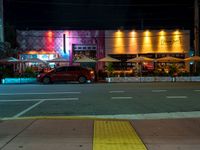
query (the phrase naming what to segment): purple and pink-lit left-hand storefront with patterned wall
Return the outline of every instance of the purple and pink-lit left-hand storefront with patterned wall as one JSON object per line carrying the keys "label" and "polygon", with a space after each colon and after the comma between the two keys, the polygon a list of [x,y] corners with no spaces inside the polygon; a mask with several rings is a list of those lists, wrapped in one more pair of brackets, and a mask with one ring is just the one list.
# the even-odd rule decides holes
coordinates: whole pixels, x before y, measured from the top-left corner
{"label": "purple and pink-lit left-hand storefront with patterned wall", "polygon": [[[46,53],[55,52],[60,58],[70,61],[70,64],[83,56],[89,58],[102,58],[105,55],[104,31],[17,31],[17,41],[23,51],[42,49]],[[36,54],[35,54],[36,55]],[[49,60],[52,57],[41,57]]]}

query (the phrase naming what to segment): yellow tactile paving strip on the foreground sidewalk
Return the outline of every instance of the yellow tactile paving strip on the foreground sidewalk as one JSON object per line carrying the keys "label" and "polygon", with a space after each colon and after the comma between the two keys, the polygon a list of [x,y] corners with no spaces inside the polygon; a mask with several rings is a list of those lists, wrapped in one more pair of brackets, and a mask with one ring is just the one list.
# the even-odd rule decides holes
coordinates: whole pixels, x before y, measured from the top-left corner
{"label": "yellow tactile paving strip on the foreground sidewalk", "polygon": [[129,121],[95,121],[93,150],[146,150]]}

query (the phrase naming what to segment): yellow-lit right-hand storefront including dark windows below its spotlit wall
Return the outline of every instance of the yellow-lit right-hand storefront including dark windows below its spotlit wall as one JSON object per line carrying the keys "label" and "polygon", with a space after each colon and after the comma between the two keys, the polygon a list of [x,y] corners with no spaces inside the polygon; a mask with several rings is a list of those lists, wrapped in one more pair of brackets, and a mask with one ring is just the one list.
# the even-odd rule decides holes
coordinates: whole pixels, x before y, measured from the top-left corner
{"label": "yellow-lit right-hand storefront including dark windows below its spotlit wall", "polygon": [[[135,63],[127,63],[127,60],[136,56],[185,58],[190,49],[188,30],[105,31],[105,39],[106,55],[121,60],[113,63],[117,70],[133,68]],[[152,68],[154,64],[144,63],[143,66]]]}

